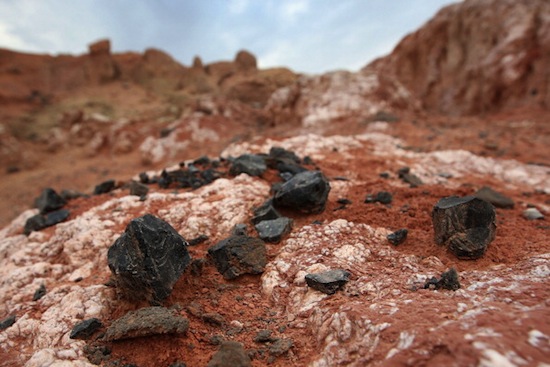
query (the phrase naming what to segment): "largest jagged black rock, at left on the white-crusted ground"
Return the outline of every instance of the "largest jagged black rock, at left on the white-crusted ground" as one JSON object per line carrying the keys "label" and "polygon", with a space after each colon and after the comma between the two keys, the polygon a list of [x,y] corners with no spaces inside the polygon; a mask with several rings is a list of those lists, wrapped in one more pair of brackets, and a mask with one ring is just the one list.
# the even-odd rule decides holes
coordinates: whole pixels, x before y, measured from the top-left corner
{"label": "largest jagged black rock, at left on the white-crusted ground", "polygon": [[160,218],[132,220],[107,253],[117,288],[129,299],[162,302],[191,261],[187,245]]}

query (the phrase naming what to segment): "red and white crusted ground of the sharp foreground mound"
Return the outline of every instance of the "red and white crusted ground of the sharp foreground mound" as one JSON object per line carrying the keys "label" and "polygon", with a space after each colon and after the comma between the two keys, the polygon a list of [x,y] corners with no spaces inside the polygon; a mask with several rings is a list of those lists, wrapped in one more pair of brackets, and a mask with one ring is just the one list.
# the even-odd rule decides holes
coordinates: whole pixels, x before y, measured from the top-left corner
{"label": "red and white crusted ground of the sharp foreground mound", "polygon": [[[324,212],[283,211],[293,229],[281,243],[266,244],[261,276],[224,280],[209,263],[198,272],[188,268],[165,302],[189,319],[187,334],[105,343],[111,354],[103,365],[205,366],[221,339],[242,343],[252,366],[550,365],[548,166],[462,150],[403,149],[405,142],[386,134],[383,124],[354,136],[259,139],[231,145],[222,156],[272,146],[310,156],[329,178]],[[403,183],[397,171],[404,166],[424,184]],[[0,316],[16,316],[0,332],[0,366],[92,366],[87,342],[69,338],[73,326],[92,317],[108,326],[148,306],[118,299],[105,285],[107,249],[128,222],[151,213],[186,239],[207,235],[189,247],[193,258],[206,258],[233,226],[249,222],[275,181],[268,171],[263,178],[220,178],[195,191],[150,185],[144,201],[118,189],[70,201],[66,222],[28,237],[22,228],[36,210],[22,213],[0,231]],[[431,210],[442,197],[483,186],[515,206],[496,210],[496,238],[482,258],[458,260],[435,244]],[[392,203],[364,202],[379,191],[392,193]],[[546,218],[525,219],[528,205]],[[386,236],[400,228],[409,234],[394,246]],[[451,267],[459,290],[423,289]],[[351,273],[343,289],[326,295],[307,287],[307,273],[333,268]],[[41,284],[46,295],[32,301]],[[261,330],[292,340],[292,347],[270,353],[270,343],[254,341]]]}

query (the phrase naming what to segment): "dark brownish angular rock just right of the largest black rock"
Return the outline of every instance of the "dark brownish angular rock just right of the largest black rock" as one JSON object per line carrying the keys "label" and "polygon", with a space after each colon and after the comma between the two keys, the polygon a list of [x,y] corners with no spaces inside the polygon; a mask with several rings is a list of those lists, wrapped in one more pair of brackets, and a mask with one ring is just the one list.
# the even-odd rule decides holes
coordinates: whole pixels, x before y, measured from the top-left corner
{"label": "dark brownish angular rock just right of the largest black rock", "polygon": [[248,236],[226,238],[210,247],[208,254],[225,279],[261,274],[267,263],[264,241]]}

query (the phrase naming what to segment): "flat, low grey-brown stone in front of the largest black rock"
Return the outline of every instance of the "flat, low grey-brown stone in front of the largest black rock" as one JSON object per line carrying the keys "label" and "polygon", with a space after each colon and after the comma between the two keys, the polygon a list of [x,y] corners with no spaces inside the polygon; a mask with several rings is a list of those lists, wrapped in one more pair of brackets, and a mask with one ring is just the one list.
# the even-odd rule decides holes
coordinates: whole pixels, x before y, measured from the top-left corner
{"label": "flat, low grey-brown stone in front of the largest black rock", "polygon": [[105,341],[138,338],[160,334],[185,334],[189,320],[176,310],[146,307],[130,311],[115,320],[105,331]]}

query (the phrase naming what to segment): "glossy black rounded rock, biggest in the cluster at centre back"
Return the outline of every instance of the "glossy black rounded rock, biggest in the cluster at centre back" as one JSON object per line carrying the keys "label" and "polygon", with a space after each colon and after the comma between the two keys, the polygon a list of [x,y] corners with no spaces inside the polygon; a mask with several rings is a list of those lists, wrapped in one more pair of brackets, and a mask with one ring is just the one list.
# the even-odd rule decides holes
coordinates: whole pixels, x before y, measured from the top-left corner
{"label": "glossy black rounded rock, biggest in the cluster at centre back", "polygon": [[275,193],[275,207],[285,207],[303,213],[325,210],[330,184],[319,171],[305,171],[283,183]]}

